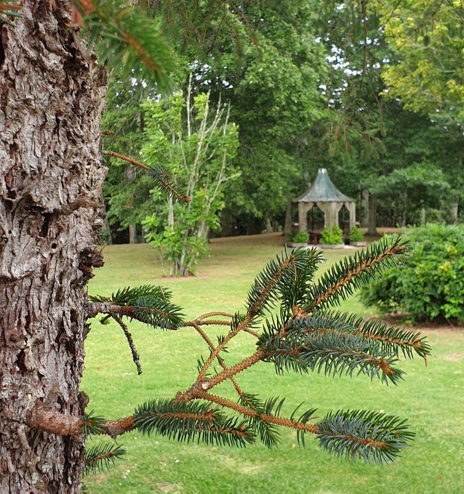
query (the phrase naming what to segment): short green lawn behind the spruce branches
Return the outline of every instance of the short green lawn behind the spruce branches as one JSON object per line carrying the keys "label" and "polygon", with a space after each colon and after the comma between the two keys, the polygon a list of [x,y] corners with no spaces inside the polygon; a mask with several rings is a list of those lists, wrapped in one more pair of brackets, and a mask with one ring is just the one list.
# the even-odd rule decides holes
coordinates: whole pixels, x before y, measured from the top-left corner
{"label": "short green lawn behind the spruce branches", "polygon": [[[127,285],[161,284],[172,288],[173,301],[184,307],[188,318],[211,310],[234,312],[243,307],[254,275],[282,242],[277,234],[215,239],[211,257],[199,268],[198,276],[189,279],[162,278],[156,253],[147,245],[106,247],[105,267],[96,270],[89,292],[107,294]],[[327,264],[321,269],[341,255],[340,251],[327,252]],[[372,312],[356,298],[342,309],[366,315]],[[90,396],[88,409],[107,418],[130,415],[148,399],[174,397],[194,382],[197,358],[209,353],[193,329],[162,332],[139,323],[129,329],[141,354],[140,376],[115,324],[92,322],[86,341],[82,388]],[[209,331],[214,333],[214,328]],[[289,429],[282,430],[282,444],[274,451],[260,444],[243,450],[178,444],[132,432],[118,438],[128,450],[126,461],[87,477],[85,483],[92,494],[461,493],[463,332],[428,331],[428,335],[432,345],[428,368],[421,359],[404,361],[402,369],[407,375],[398,386],[383,386],[367,376],[277,377],[274,367],[265,364],[238,375],[239,384],[249,393],[263,398],[286,396],[287,412],[304,400],[307,408],[319,407],[321,414],[367,408],[407,417],[417,438],[397,465],[380,467],[336,459],[319,450],[310,438],[302,450],[295,444],[296,432]],[[228,364],[251,353],[254,346],[247,334],[233,343],[226,354]],[[236,399],[230,384],[221,385],[219,391]]]}

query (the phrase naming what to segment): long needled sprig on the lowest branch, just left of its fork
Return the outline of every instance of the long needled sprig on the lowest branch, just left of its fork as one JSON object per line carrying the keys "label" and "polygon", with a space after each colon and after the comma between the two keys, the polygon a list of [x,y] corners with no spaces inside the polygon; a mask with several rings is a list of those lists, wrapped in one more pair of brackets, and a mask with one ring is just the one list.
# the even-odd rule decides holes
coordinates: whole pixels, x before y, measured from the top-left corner
{"label": "long needled sprig on the lowest branch, just left of its fork", "polygon": [[227,417],[213,403],[149,401],[135,411],[134,425],[142,434],[156,432],[177,441],[245,447],[254,435],[245,421]]}

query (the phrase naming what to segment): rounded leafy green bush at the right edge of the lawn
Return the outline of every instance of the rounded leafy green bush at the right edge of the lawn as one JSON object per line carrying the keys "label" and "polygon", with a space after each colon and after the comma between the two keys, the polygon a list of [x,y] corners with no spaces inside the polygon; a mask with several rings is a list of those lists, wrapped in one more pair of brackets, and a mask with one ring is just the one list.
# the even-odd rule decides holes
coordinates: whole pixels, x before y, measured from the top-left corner
{"label": "rounded leafy green bush at the right edge of the lawn", "polygon": [[428,223],[404,238],[415,247],[411,257],[362,289],[361,300],[384,312],[409,312],[418,321],[442,316],[464,322],[463,225]]}

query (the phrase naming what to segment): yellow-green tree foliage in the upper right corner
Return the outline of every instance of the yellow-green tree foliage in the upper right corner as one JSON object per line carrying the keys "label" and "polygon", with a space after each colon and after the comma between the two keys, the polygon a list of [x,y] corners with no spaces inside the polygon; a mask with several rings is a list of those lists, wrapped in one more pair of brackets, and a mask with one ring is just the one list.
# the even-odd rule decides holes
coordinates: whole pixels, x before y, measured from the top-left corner
{"label": "yellow-green tree foliage in the upper right corner", "polygon": [[400,63],[390,62],[382,77],[389,98],[405,108],[463,121],[463,2],[387,1],[380,6],[387,40]]}

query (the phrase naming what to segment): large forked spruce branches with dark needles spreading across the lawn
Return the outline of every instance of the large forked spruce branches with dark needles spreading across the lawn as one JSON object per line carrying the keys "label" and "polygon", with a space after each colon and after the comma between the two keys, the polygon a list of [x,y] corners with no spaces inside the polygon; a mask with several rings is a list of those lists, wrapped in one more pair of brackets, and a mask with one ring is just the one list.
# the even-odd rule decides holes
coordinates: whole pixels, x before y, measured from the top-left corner
{"label": "large forked spruce branches with dark needles spreading across the lawn", "polygon": [[[237,374],[261,363],[274,365],[277,373],[365,374],[385,385],[398,384],[404,376],[398,367],[400,355],[417,355],[427,363],[430,348],[425,338],[383,322],[331,312],[328,307],[338,305],[409,250],[399,238],[391,243],[380,241],[340,261],[316,282],[318,266],[325,262],[321,251],[285,249],[254,280],[245,311],[234,315],[210,312],[185,321],[181,309],[171,302],[173,294],[156,286],[91,297],[90,315],[104,314],[103,322],[120,316],[155,329],[192,328],[209,349],[208,358],[199,358],[198,377],[189,389],[178,391],[170,400],[150,400],[132,416],[101,422],[98,427],[107,427],[113,437],[138,429],[187,443],[246,447],[259,440],[270,449],[280,443],[280,428],[289,427],[297,431],[303,447],[306,435],[312,434],[322,449],[336,456],[377,464],[394,462],[414,436],[404,419],[366,410],[340,410],[317,421],[315,408],[300,411],[301,406],[290,417],[283,417],[285,398],[249,394],[240,387]],[[224,328],[217,344],[207,334],[213,325]],[[227,344],[241,331],[255,339],[256,350],[228,365],[226,358],[232,356]],[[219,370],[212,370],[215,361]],[[237,401],[211,392],[226,380],[237,391]]]}

